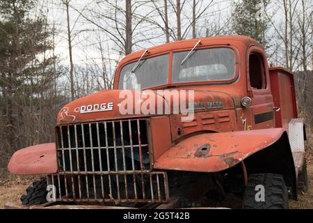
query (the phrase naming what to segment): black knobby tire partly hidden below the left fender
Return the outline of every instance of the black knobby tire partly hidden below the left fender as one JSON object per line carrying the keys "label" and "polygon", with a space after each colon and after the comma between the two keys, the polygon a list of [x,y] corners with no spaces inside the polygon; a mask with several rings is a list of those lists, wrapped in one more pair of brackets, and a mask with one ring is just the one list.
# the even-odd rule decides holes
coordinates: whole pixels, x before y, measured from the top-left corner
{"label": "black knobby tire partly hidden below the left fender", "polygon": [[33,182],[33,185],[26,189],[26,194],[21,197],[22,204],[31,206],[47,202],[47,179],[41,178]]}

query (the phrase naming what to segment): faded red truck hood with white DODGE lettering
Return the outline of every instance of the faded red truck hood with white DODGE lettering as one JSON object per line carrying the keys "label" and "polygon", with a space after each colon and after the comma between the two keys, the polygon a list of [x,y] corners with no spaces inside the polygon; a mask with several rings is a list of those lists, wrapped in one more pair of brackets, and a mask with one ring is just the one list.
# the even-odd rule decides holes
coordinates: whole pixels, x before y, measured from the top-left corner
{"label": "faded red truck hood with white DODGE lettering", "polygon": [[[90,121],[113,120],[120,118],[135,118],[138,116],[158,116],[175,114],[177,103],[188,107],[192,104],[195,112],[216,109],[234,109],[234,101],[227,93],[217,91],[194,91],[193,100],[189,100],[188,93],[180,94],[184,90],[171,89],[163,91],[125,91],[106,90],[87,95],[65,105],[58,113],[57,124],[84,123]],[[160,93],[161,92],[161,93]],[[185,91],[186,92],[186,91]],[[180,96],[182,95],[182,96]],[[191,95],[192,96],[192,95]],[[181,101],[186,99],[186,106]],[[150,99],[150,103],[148,103]],[[125,106],[125,103],[127,103]],[[152,103],[155,102],[155,103]],[[183,102],[184,103],[184,102]],[[162,112],[157,112],[162,106]],[[177,106],[176,106],[177,107]],[[122,109],[127,109],[127,114]],[[147,114],[140,108],[152,110]],[[166,108],[166,109],[165,109]],[[122,111],[122,112],[121,112]],[[153,113],[155,111],[155,113]]]}

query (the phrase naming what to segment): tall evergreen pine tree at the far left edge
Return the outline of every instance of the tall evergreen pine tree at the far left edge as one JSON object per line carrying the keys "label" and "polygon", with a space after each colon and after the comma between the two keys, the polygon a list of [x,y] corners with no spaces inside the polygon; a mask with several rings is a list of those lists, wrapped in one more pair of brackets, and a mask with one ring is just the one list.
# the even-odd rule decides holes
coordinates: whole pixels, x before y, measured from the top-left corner
{"label": "tall evergreen pine tree at the far left edge", "polygon": [[25,140],[28,132],[22,133],[25,116],[42,119],[40,109],[45,108],[54,77],[54,59],[46,54],[52,48],[51,29],[43,13],[31,19],[32,8],[33,0],[0,1],[0,139],[6,139],[6,145],[1,141],[7,153],[35,143]]}

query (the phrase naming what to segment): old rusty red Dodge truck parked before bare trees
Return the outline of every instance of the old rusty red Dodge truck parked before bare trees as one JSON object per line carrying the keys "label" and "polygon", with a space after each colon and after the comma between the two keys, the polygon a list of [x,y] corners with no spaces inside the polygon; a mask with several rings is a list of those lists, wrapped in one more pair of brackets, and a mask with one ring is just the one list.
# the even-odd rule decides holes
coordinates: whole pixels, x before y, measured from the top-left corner
{"label": "old rusty red Dodge truck parked before bare trees", "polygon": [[8,169],[46,176],[20,208],[289,208],[307,189],[305,140],[291,72],[246,36],[200,38],[125,56],[112,90],[65,105],[56,143]]}

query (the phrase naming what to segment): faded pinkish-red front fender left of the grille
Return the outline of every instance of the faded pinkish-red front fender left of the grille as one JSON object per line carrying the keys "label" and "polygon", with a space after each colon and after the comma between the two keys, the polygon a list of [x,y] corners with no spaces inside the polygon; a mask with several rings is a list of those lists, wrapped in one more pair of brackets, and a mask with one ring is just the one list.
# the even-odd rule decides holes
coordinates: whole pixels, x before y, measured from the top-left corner
{"label": "faded pinkish-red front fender left of the grille", "polygon": [[40,144],[20,149],[11,157],[8,171],[19,175],[56,173],[56,144]]}

